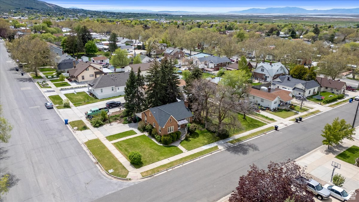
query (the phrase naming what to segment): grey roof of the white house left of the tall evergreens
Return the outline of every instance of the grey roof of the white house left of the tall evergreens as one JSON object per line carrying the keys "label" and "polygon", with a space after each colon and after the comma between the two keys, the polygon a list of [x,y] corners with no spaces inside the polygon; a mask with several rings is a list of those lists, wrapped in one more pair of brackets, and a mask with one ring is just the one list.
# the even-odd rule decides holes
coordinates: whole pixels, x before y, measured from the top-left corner
{"label": "grey roof of the white house left of the tall evergreens", "polygon": [[130,77],[129,72],[114,73],[101,75],[91,81],[86,82],[91,88],[121,87],[126,86],[127,79]]}

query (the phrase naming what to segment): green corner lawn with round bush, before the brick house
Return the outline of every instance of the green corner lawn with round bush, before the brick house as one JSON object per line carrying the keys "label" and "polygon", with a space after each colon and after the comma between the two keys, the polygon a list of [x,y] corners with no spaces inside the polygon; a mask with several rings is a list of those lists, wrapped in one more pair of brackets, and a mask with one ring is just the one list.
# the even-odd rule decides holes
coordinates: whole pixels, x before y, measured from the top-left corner
{"label": "green corner lawn with round bush, before the brick house", "polygon": [[159,145],[145,135],[125,139],[113,143],[113,145],[126,157],[126,159],[129,159],[129,153],[131,151],[140,152],[142,155],[142,164],[134,165],[136,168],[182,153],[182,150],[176,146]]}

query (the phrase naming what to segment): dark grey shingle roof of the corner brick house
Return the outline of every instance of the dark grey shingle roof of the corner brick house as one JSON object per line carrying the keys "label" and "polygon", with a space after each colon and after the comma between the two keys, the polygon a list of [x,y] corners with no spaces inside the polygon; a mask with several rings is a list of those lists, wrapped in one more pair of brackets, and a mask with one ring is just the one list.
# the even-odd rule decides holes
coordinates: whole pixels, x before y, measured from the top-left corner
{"label": "dark grey shingle roof of the corner brick house", "polygon": [[190,109],[185,106],[184,101],[173,102],[171,104],[158,107],[152,107],[149,110],[151,112],[151,115],[153,115],[153,117],[156,119],[158,125],[162,128],[164,127],[164,125],[166,125],[171,115],[177,121],[193,116]]}

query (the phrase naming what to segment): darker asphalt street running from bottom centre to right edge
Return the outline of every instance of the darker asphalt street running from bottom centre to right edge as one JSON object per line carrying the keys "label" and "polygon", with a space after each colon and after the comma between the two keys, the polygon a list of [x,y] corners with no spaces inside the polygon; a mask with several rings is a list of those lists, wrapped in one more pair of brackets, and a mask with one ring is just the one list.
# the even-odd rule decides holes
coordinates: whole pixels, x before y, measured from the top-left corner
{"label": "darker asphalt street running from bottom centre to right edge", "polygon": [[235,189],[251,164],[266,168],[270,161],[297,159],[322,145],[320,134],[326,123],[336,117],[353,123],[355,109],[356,102],[342,105],[97,201],[217,201]]}

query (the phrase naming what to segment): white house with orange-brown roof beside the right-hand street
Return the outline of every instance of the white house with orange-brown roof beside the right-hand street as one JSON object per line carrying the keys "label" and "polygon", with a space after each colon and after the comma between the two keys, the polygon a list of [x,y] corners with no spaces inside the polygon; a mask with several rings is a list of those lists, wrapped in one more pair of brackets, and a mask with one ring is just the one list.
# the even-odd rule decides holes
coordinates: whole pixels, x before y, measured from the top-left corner
{"label": "white house with orange-brown roof beside the right-hand street", "polygon": [[278,108],[279,106],[286,106],[291,103],[293,100],[293,94],[290,91],[282,90],[282,89],[271,89],[262,87],[263,89],[259,90],[256,88],[251,88],[248,93],[248,99],[256,105],[260,105],[263,107],[268,107],[273,110]]}

